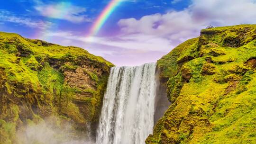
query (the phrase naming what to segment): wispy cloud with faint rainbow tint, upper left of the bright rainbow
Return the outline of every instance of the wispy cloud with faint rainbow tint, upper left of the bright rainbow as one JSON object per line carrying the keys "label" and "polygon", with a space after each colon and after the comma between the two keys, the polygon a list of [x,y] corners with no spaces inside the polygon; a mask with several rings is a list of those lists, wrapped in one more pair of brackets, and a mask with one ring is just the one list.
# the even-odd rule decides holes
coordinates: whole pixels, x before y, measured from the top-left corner
{"label": "wispy cloud with faint rainbow tint, upper left of the bright rainbow", "polygon": [[34,8],[44,17],[64,19],[73,23],[91,21],[91,19],[85,15],[85,8],[74,6],[70,2],[46,4],[37,0],[36,3]]}

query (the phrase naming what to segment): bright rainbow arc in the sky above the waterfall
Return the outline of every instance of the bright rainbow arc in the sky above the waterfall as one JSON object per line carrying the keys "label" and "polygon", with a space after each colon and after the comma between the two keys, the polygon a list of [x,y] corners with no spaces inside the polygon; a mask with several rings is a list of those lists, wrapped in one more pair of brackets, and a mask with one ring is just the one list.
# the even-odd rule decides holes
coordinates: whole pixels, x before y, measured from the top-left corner
{"label": "bright rainbow arc in the sky above the waterfall", "polygon": [[106,20],[110,17],[111,13],[118,7],[118,5],[123,0],[111,0],[110,3],[105,7],[105,9],[101,12],[100,16],[97,18],[93,26],[91,27],[89,36],[95,36],[101,27],[104,25]]}

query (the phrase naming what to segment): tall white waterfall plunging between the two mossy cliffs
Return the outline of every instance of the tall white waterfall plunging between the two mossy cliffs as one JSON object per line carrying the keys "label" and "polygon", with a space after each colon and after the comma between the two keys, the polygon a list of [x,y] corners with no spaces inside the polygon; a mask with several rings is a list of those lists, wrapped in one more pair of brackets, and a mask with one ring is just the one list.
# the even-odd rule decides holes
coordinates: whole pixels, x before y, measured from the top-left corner
{"label": "tall white waterfall plunging between the two mossy cliffs", "polygon": [[145,144],[154,126],[155,66],[111,68],[96,144]]}

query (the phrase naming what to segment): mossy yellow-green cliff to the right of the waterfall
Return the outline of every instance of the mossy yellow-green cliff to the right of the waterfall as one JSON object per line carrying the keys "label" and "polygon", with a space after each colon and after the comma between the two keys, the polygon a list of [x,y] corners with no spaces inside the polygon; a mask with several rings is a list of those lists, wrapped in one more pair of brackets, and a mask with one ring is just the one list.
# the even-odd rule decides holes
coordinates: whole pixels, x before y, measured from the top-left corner
{"label": "mossy yellow-green cliff to the right of the waterfall", "polygon": [[255,144],[256,25],[203,29],[157,64],[172,105],[146,144]]}

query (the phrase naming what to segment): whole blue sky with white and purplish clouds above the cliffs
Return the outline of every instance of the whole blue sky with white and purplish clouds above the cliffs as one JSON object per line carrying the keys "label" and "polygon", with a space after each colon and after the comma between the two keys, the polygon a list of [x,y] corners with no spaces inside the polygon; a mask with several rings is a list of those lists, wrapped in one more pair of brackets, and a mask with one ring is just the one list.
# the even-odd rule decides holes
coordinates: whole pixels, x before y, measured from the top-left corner
{"label": "whole blue sky with white and purplish clouds above the cliffs", "polygon": [[[98,19],[102,27],[93,31]],[[2,0],[0,5],[0,31],[82,47],[117,66],[156,62],[209,25],[239,24],[256,24],[256,0]]]}

